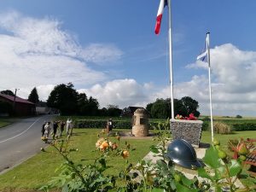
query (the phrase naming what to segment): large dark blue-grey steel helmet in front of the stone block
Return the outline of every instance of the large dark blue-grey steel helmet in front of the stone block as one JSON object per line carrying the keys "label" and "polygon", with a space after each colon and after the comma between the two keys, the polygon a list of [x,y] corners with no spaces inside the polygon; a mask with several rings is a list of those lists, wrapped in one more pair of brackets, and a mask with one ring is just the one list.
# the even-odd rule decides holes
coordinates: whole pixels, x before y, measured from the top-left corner
{"label": "large dark blue-grey steel helmet in front of the stone block", "polygon": [[201,167],[201,163],[196,158],[195,149],[184,139],[176,139],[168,145],[166,157],[188,169]]}

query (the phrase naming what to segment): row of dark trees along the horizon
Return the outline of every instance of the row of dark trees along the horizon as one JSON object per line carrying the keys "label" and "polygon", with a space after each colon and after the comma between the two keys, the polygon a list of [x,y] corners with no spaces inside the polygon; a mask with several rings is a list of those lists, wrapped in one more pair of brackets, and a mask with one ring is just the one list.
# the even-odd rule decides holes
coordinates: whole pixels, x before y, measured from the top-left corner
{"label": "row of dark trees along the horizon", "polygon": [[[11,90],[3,90],[1,93],[15,96]],[[28,101],[39,103],[38,90],[34,87],[27,98]],[[46,102],[49,108],[57,109],[61,115],[84,115],[84,116],[119,116],[122,109],[117,105],[108,105],[107,108],[99,108],[99,102],[92,96],[88,97],[85,93],[79,93],[73,88],[72,83],[58,84],[49,94]],[[3,108],[4,107],[4,108]],[[148,103],[146,109],[151,118],[166,119],[171,117],[171,99],[156,99],[155,102]],[[180,100],[174,99],[174,113],[189,116],[194,113],[196,117],[200,115],[197,111],[199,104],[189,96],[184,96]],[[6,113],[10,106],[0,102],[0,113]],[[4,110],[3,110],[4,109]]]}

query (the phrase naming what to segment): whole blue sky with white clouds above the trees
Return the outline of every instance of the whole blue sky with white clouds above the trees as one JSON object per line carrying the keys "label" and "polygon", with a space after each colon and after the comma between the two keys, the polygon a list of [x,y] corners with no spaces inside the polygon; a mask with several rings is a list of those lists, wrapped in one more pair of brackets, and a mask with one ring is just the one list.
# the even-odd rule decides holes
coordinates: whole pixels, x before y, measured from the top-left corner
{"label": "whole blue sky with white clouds above the trees", "polygon": [[[168,9],[160,0],[0,1],[0,90],[46,101],[57,84],[100,108],[146,107],[170,93]],[[212,113],[256,116],[256,1],[172,0],[174,98],[209,115],[208,65],[196,61],[210,32]]]}

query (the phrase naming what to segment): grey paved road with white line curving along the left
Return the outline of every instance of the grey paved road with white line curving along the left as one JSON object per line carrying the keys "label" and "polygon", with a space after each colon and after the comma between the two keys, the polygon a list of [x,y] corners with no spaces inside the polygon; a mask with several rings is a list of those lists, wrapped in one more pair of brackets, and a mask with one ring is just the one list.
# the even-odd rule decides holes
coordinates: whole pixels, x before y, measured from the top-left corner
{"label": "grey paved road with white line curving along the left", "polygon": [[0,129],[0,174],[40,151],[41,127],[52,115],[20,119]]}

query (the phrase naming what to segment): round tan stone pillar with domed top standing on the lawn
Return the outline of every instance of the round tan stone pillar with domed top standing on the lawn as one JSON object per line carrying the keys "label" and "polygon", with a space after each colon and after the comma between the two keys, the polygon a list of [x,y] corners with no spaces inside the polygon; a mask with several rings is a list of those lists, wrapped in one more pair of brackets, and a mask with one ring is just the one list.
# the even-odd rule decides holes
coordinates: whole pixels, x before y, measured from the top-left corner
{"label": "round tan stone pillar with domed top standing on the lawn", "polygon": [[148,127],[148,113],[144,108],[137,108],[133,116],[132,134],[135,137],[147,137]]}

